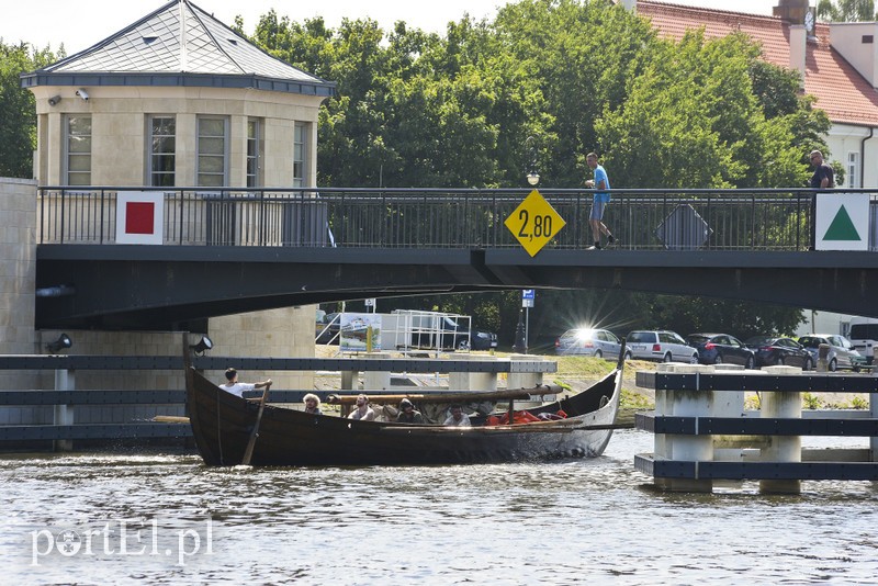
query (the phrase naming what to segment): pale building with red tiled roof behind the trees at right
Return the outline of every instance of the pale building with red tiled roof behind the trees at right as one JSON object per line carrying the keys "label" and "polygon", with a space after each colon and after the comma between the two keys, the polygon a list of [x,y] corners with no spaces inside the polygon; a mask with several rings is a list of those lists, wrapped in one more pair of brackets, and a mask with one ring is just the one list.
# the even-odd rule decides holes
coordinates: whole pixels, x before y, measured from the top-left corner
{"label": "pale building with red tiled roof behind the trees at right", "polygon": [[802,74],[804,92],[832,121],[830,159],[845,166],[845,187],[878,187],[878,23],[815,22],[808,0],[778,0],[772,16],[656,1],[621,3],[673,40],[697,29],[707,37],[750,35],[766,61]]}

